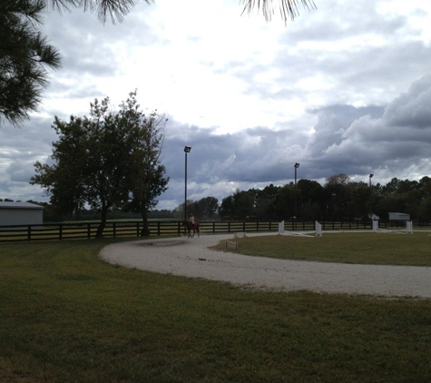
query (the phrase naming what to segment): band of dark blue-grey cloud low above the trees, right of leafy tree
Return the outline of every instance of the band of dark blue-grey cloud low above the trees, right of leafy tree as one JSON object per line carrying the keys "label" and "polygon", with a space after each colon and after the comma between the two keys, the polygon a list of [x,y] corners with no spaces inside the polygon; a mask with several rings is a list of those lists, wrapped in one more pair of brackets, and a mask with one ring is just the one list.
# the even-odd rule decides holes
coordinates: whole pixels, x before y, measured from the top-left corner
{"label": "band of dark blue-grey cloud low above the trees, right of leafy tree", "polygon": [[[220,192],[226,193],[226,185],[231,183],[248,189],[290,182],[294,162],[301,163],[300,177],[311,180],[346,173],[367,181],[367,174],[375,172],[377,182],[385,183],[403,174],[408,178],[412,166],[415,172],[429,174],[430,104],[431,75],[426,75],[386,108],[332,105],[311,110],[318,123],[304,145],[298,145],[304,137],[289,129],[256,127],[214,135],[213,129],[172,122],[169,132],[181,134],[171,138],[167,133],[165,140],[164,164],[171,176],[170,187],[181,194],[184,145],[192,147],[188,154],[191,199],[205,196],[198,185],[207,185],[210,195],[221,198]],[[173,198],[173,191],[167,195]]]}

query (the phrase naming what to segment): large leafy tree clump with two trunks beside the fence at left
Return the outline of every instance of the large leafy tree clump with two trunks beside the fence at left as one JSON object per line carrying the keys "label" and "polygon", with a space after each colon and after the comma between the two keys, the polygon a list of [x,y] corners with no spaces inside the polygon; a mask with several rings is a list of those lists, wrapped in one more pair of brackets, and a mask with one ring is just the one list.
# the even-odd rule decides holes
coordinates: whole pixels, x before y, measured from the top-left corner
{"label": "large leafy tree clump with two trunks beside the fence at left", "polygon": [[169,179],[160,163],[164,123],[157,113],[139,110],[136,92],[130,93],[118,113],[109,110],[109,98],[91,103],[90,115],[71,116],[68,123],[55,117],[53,165],[35,162],[39,184],[51,203],[71,215],[84,204],[101,211],[96,236],[103,235],[108,212],[113,208],[139,211],[148,235],[146,214],[157,204]]}

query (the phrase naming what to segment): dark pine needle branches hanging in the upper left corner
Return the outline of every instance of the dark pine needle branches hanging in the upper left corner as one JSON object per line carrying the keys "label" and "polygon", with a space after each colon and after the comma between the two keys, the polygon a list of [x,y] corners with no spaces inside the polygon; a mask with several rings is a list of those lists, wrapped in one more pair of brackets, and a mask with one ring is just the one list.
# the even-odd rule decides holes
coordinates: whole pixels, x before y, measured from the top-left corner
{"label": "dark pine needle branches hanging in the upper left corner", "polygon": [[0,1],[0,123],[17,126],[37,111],[47,69],[61,65],[39,29],[44,6],[44,0]]}

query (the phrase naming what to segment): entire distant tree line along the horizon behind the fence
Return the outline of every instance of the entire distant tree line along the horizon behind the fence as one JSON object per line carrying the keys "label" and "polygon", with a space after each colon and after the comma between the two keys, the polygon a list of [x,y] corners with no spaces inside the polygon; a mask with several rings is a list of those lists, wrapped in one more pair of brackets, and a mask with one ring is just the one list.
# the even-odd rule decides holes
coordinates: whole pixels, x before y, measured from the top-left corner
{"label": "entire distant tree line along the horizon behind the fence", "polygon": [[[200,221],[211,220],[259,220],[282,221],[295,216],[295,194],[298,221],[368,221],[374,213],[387,220],[388,212],[410,214],[417,221],[431,221],[431,178],[420,181],[393,178],[386,185],[353,182],[346,174],[328,177],[324,185],[312,180],[299,180],[284,186],[269,184],[264,189],[235,191],[219,203],[215,197],[199,201],[187,201],[187,212]],[[13,201],[9,199],[0,201]],[[55,211],[52,204],[36,202],[44,206],[44,221],[62,221],[64,217]],[[109,219],[140,218],[139,213],[113,209]],[[171,210],[148,211],[149,219],[181,220],[184,203]],[[97,209],[75,211],[73,220],[100,220]]]}

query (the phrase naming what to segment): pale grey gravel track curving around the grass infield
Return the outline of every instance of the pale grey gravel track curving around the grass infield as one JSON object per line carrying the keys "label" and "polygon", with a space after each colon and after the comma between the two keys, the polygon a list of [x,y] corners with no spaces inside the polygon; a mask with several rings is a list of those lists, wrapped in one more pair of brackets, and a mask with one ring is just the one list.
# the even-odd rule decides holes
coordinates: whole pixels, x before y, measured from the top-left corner
{"label": "pale grey gravel track curving around the grass infield", "polygon": [[431,298],[431,268],[275,260],[209,249],[232,237],[205,235],[114,243],[103,248],[100,257],[125,267],[250,288]]}

